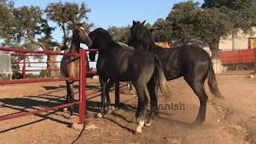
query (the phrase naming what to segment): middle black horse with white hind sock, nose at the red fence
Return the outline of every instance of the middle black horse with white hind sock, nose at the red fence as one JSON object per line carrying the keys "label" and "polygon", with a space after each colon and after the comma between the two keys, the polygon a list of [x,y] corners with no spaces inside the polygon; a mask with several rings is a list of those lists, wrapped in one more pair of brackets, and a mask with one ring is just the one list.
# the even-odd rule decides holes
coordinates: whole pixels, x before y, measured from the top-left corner
{"label": "middle black horse with white hind sock, nose at the red fence", "polygon": [[[97,70],[102,87],[102,109],[105,110],[106,83],[109,79],[114,82],[132,82],[138,94],[138,108],[135,118],[138,122],[137,132],[142,133],[146,114],[146,105],[150,97],[147,83],[156,82],[162,93],[169,97],[169,88],[158,58],[146,50],[130,50],[129,46],[115,42],[110,34],[98,28],[89,34],[91,48],[98,48]],[[89,57],[94,61],[96,52],[90,52]]]}

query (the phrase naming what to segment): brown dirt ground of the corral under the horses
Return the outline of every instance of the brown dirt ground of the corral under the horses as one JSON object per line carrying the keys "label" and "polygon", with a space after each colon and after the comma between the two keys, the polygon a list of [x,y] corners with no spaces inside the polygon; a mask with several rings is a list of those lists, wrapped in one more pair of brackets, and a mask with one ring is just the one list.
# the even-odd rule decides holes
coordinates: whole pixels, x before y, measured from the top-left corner
{"label": "brown dirt ground of the corral under the horses", "polygon": [[[173,90],[173,104],[182,104],[185,110],[160,110],[150,127],[142,134],[134,134],[137,124],[133,107],[114,110],[105,118],[97,118],[98,108],[87,102],[89,125],[76,143],[256,143],[256,81],[246,76],[218,76],[218,86],[224,100],[209,95],[206,122],[194,126],[198,114],[198,98],[183,78],[169,82]],[[98,90],[97,80],[87,80],[87,89]],[[76,89],[77,91],[78,89]],[[135,92],[123,88],[121,102],[133,106],[137,103]],[[0,86],[0,115],[38,110],[65,102],[64,82],[46,82],[24,85]],[[114,94],[111,93],[111,98]],[[159,104],[166,104],[159,98]],[[170,102],[169,102],[170,103]],[[171,103],[170,103],[171,104]],[[76,107],[76,112],[78,108]],[[0,122],[0,143],[71,143],[81,129],[70,128],[78,117],[68,118],[62,110],[35,114]]]}

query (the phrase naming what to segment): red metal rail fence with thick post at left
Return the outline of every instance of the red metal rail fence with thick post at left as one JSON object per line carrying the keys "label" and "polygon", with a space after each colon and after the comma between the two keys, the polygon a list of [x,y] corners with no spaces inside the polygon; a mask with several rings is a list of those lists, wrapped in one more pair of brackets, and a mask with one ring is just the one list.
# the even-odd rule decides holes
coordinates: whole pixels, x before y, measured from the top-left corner
{"label": "red metal rail fence with thick post at left", "polygon": [[[10,51],[14,53],[22,53],[22,54],[12,54],[13,56],[23,56],[23,68],[22,72],[25,74],[26,72],[26,57],[27,56],[35,56],[37,54],[42,54],[42,55],[65,55],[65,56],[75,56],[79,58],[79,78],[31,78],[31,79],[15,79],[12,81],[0,81],[0,85],[10,85],[10,84],[23,84],[23,83],[33,83],[33,82],[56,82],[56,81],[66,81],[66,80],[74,80],[74,81],[79,81],[79,101],[78,102],[72,102],[72,103],[67,103],[59,106],[54,106],[54,107],[48,107],[46,109],[40,109],[40,110],[34,110],[30,112],[24,112],[24,113],[18,113],[18,114],[11,114],[8,116],[0,116],[0,121],[12,119],[12,118],[19,118],[23,117],[26,115],[30,114],[38,114],[50,110],[57,110],[61,108],[65,108],[68,106],[72,106],[75,104],[79,105],[79,123],[84,123],[85,121],[85,111],[86,111],[86,97],[89,97],[91,95],[95,94],[100,94],[100,91],[95,91],[86,94],[86,74],[94,73],[94,70],[91,71],[86,71],[86,52],[87,51],[97,51],[96,49],[94,50],[79,50],[79,54],[64,54],[64,53],[55,53],[51,51],[38,51],[38,50],[24,50],[24,49],[17,49],[17,48],[6,48],[6,47],[0,47],[0,50],[3,51]],[[25,59],[25,60],[24,60]],[[31,62],[30,62],[31,63]],[[16,63],[17,64],[17,63]],[[115,85],[115,102],[119,103],[119,82],[116,83]]]}

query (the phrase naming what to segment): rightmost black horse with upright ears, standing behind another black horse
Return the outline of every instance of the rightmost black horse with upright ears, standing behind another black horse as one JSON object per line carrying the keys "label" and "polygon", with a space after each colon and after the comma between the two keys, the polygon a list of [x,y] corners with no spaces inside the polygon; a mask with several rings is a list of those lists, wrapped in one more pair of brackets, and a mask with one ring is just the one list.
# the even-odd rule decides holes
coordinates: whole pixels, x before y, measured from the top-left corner
{"label": "rightmost black horse with upright ears, standing behind another black horse", "polygon": [[[200,101],[198,117],[195,122],[205,122],[208,96],[204,82],[207,77],[210,92],[218,98],[222,98],[209,54],[199,46],[183,45],[171,49],[156,46],[150,35],[150,30],[144,26],[144,23],[145,21],[142,23],[133,21],[128,44],[136,50],[150,50],[156,54],[162,63],[167,81],[180,77],[186,80]],[[151,97],[155,97],[154,93],[150,94],[152,94]]]}

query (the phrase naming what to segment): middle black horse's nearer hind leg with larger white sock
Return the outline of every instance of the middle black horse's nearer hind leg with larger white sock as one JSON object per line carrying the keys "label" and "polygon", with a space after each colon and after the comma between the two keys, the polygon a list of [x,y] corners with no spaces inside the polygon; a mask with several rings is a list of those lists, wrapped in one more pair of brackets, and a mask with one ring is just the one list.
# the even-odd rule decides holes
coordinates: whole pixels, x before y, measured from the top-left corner
{"label": "middle black horse's nearer hind leg with larger white sock", "polygon": [[142,105],[142,106],[138,106],[138,108],[140,108],[140,110],[139,110],[139,115],[138,115],[138,118],[137,118],[138,127],[136,129],[136,132],[142,133],[142,127],[145,124],[146,105],[147,105],[147,102],[148,102],[147,95],[149,95],[149,92],[146,88],[146,85],[145,86],[137,85],[136,90],[137,90],[137,93],[138,93],[138,99],[140,99],[139,105]]}

